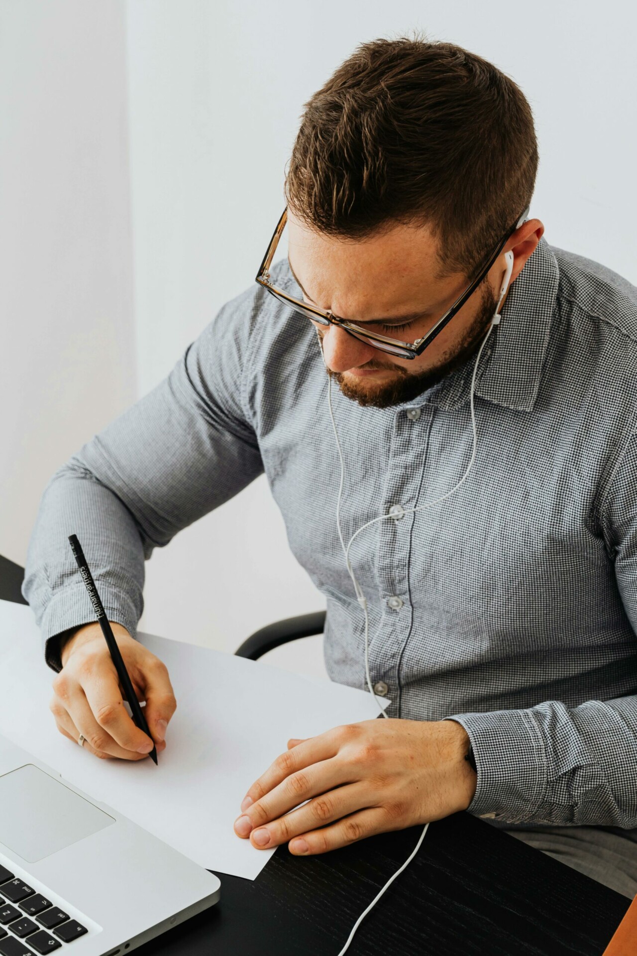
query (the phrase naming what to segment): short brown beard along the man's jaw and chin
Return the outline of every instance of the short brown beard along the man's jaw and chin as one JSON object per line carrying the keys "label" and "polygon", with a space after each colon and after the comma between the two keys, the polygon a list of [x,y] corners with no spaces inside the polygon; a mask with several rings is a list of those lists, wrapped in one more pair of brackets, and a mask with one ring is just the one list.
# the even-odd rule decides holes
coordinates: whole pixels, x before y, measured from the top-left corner
{"label": "short brown beard along the man's jaw and chin", "polygon": [[497,306],[498,299],[495,293],[488,283],[485,283],[480,296],[478,314],[472,324],[465,330],[456,346],[446,352],[437,365],[426,369],[424,372],[410,373],[403,365],[396,365],[391,361],[372,359],[359,367],[378,370],[387,369],[396,373],[395,379],[384,384],[370,384],[365,381],[351,382],[346,380],[341,372],[332,372],[330,369],[328,369],[328,375],[338,382],[339,388],[347,399],[358,402],[359,405],[389,408],[391,405],[411,402],[428,388],[437,385],[450,372],[453,372],[478,352],[479,342],[486,332]]}

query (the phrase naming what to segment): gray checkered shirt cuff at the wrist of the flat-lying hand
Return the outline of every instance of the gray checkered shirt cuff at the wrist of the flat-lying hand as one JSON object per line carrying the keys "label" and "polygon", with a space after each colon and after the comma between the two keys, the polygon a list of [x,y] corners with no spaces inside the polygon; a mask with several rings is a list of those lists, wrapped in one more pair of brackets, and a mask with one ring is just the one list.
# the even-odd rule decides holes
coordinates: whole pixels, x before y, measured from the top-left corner
{"label": "gray checkered shirt cuff at the wrist of the flat-lying hand", "polygon": [[541,732],[528,710],[452,714],[468,733],[478,781],[467,811],[523,823],[537,820],[548,788],[548,761]]}

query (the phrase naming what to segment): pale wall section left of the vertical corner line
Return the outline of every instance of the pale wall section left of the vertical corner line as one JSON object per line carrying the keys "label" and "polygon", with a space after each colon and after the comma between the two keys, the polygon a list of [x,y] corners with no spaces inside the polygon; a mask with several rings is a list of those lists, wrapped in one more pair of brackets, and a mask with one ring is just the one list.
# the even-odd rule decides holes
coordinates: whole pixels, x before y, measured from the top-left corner
{"label": "pale wall section left of the vertical corner line", "polygon": [[137,395],[123,9],[0,4],[0,554]]}

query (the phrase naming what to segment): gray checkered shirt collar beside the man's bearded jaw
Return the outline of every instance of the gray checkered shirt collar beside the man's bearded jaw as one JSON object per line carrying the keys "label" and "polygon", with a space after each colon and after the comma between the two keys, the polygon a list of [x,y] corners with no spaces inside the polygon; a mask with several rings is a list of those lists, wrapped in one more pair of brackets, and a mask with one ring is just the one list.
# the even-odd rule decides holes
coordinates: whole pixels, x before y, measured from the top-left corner
{"label": "gray checkered shirt collar beside the man's bearded jaw", "polygon": [[[541,239],[511,285],[499,326],[484,347],[476,378],[476,394],[480,398],[520,411],[533,408],[540,388],[559,278],[557,259],[548,243]],[[425,402],[447,410],[468,402],[475,360],[472,356],[447,376]]]}

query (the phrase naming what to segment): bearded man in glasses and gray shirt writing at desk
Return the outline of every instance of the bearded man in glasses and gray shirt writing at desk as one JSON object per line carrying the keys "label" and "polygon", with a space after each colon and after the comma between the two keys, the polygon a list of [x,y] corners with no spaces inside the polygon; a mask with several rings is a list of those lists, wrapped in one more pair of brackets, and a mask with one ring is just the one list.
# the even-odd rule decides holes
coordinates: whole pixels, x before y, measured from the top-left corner
{"label": "bearded man in glasses and gray shirt writing at desk", "polygon": [[288,259],[268,272],[271,244],[43,494],[23,594],[62,733],[98,757],[152,747],[69,530],[160,751],[176,701],[135,640],[144,559],[264,470],[327,598],[329,675],[368,685],[329,376],[346,547],[372,522],[349,556],[390,719],[290,740],[238,795],[237,835],[314,854],[468,809],[637,892],[637,296],[526,218],[537,163],[519,88],[452,44],[363,44],[310,98]]}

